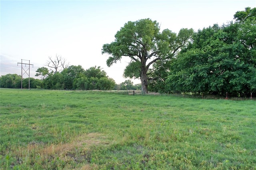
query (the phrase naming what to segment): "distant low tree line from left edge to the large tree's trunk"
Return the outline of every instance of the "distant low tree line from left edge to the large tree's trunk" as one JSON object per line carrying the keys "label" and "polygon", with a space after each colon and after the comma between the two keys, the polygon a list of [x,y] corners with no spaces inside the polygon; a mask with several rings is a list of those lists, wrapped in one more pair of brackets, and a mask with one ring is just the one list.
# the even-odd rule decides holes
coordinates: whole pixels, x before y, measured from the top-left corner
{"label": "distant low tree line from left edge to the large tree's trunk", "polygon": [[[56,57],[57,58],[57,57]],[[57,67],[56,67],[57,68]],[[44,88],[52,90],[140,90],[140,84],[133,84],[131,80],[125,80],[116,84],[112,78],[108,78],[106,72],[100,66],[90,67],[86,70],[82,66],[67,66],[62,71],[59,68],[49,70],[41,67],[36,70],[36,76],[41,79],[30,78],[30,88]],[[28,88],[29,78],[23,78],[18,74],[6,74],[0,77],[1,88]]]}

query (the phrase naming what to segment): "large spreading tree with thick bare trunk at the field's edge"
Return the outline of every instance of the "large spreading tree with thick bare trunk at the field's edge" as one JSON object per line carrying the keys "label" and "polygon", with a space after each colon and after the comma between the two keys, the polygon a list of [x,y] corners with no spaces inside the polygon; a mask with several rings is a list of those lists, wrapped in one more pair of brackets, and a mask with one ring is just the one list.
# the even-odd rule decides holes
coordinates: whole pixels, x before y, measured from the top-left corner
{"label": "large spreading tree with thick bare trunk at the field's edge", "polygon": [[111,55],[107,65],[129,57],[131,62],[126,67],[124,76],[140,78],[142,94],[148,93],[148,70],[157,61],[166,61],[174,57],[186,45],[192,29],[181,29],[178,35],[169,29],[160,33],[160,26],[156,21],[142,19],[128,21],[115,35],[115,41],[104,44],[102,54]]}

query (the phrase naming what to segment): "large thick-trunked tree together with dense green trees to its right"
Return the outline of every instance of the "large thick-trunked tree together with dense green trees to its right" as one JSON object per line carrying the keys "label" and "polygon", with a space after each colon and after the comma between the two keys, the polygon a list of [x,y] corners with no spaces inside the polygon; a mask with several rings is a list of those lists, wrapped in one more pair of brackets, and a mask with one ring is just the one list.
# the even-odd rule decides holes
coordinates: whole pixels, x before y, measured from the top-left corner
{"label": "large thick-trunked tree together with dense green trees to its right", "polygon": [[108,66],[129,57],[124,76],[140,78],[142,93],[248,96],[256,92],[256,8],[234,14],[234,21],[202,30],[160,32],[157,21],[128,21],[115,41],[102,46]]}

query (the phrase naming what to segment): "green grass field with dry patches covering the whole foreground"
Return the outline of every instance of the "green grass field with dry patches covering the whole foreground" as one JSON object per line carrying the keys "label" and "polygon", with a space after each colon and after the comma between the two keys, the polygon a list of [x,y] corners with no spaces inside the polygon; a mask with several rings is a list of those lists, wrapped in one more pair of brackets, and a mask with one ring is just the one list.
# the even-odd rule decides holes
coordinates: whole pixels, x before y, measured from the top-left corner
{"label": "green grass field with dry patches covering the whole foreground", "polygon": [[0,169],[256,169],[256,101],[0,89]]}

